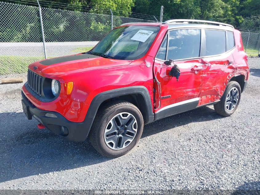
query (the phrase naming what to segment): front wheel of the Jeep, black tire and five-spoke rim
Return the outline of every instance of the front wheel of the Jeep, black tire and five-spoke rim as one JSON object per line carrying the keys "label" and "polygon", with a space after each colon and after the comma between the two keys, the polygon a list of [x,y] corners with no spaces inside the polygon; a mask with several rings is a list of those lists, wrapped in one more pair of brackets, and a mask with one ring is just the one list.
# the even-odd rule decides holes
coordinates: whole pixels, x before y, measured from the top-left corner
{"label": "front wheel of the Jeep, black tire and five-spoke rim", "polygon": [[142,114],[134,104],[112,101],[98,110],[89,139],[92,146],[103,156],[119,157],[138,143],[143,125]]}

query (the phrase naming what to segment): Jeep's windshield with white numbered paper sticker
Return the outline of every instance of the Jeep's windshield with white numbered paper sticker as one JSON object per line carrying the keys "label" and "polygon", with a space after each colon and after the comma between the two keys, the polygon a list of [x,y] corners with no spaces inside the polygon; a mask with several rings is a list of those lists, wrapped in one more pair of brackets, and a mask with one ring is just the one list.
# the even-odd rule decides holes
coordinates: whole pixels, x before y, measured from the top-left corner
{"label": "Jeep's windshield with white numbered paper sticker", "polygon": [[111,30],[89,54],[133,60],[143,57],[154,41],[158,26],[122,26]]}

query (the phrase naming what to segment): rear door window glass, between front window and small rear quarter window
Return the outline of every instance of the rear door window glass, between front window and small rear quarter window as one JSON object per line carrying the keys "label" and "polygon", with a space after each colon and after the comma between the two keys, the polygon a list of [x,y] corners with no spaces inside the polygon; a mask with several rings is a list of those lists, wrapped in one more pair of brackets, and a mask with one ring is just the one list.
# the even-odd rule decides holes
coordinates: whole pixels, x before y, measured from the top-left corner
{"label": "rear door window glass, between front window and small rear quarter window", "polygon": [[226,52],[226,33],[222,30],[205,30],[206,55],[218,55]]}

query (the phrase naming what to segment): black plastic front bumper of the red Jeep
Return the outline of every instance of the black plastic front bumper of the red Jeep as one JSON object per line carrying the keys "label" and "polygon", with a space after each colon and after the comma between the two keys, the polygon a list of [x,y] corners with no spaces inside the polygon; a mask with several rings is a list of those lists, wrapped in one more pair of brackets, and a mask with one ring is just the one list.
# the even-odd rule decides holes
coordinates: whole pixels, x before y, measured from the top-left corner
{"label": "black plastic front bumper of the red Jeep", "polygon": [[[89,133],[89,126],[86,121],[81,123],[71,122],[67,120],[58,112],[41,110],[34,106],[22,92],[22,105],[23,110],[29,120],[32,116],[42,123],[50,131],[54,132],[58,136],[65,138],[66,140],[83,142],[86,140]],[[57,118],[47,117],[46,113],[55,114]],[[68,134],[62,133],[62,126],[68,129]]]}

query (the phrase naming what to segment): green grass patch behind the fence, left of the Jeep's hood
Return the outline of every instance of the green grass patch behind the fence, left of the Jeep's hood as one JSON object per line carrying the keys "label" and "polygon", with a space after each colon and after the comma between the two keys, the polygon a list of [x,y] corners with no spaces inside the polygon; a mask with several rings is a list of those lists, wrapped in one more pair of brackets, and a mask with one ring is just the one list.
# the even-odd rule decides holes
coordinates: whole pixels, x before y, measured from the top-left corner
{"label": "green grass patch behind the fence, left of the Jeep's hood", "polygon": [[44,57],[0,55],[0,75],[26,73],[28,65]]}

